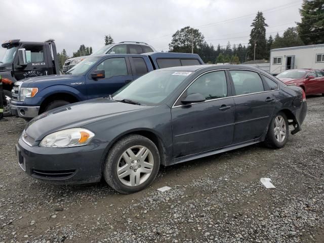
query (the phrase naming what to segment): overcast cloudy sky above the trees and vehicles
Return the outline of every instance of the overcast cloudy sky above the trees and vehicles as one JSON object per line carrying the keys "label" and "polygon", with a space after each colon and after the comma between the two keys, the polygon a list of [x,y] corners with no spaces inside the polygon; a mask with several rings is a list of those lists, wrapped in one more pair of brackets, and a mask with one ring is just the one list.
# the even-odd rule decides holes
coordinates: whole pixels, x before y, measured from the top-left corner
{"label": "overcast cloudy sky above the trees and vehicles", "polygon": [[[7,39],[54,38],[59,52],[72,55],[80,45],[96,51],[104,35],[115,42],[146,42],[167,51],[172,34],[198,28],[215,46],[248,43],[251,23],[262,11],[267,35],[282,34],[300,21],[302,0],[11,0],[1,3],[0,43]],[[0,59],[5,49],[0,48]]]}

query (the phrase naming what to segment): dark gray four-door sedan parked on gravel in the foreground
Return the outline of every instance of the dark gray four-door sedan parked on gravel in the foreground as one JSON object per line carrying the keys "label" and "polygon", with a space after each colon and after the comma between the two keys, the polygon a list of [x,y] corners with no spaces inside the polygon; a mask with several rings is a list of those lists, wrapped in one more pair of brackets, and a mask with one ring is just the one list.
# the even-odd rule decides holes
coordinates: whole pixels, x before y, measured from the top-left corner
{"label": "dark gray four-door sedan parked on gravel in the foreground", "polygon": [[132,193],[170,166],[251,144],[281,148],[301,130],[305,93],[253,67],[183,66],[147,73],[112,97],[32,119],[17,144],[20,167],[51,183],[103,177]]}

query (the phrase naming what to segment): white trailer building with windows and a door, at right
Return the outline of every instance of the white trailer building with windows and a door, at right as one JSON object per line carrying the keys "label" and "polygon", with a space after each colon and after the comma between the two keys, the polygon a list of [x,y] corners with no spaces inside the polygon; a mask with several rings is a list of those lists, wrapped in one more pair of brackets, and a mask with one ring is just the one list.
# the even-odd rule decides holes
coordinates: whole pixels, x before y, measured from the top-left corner
{"label": "white trailer building with windows and a door, at right", "polygon": [[324,68],[324,44],[272,49],[270,73],[278,74],[287,69]]}

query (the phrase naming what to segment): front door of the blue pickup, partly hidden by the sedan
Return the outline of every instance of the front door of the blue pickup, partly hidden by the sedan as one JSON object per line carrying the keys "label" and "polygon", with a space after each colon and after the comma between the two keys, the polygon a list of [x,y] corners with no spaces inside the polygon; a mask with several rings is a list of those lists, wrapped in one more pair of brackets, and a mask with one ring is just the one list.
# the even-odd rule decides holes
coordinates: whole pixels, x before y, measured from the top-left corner
{"label": "front door of the blue pickup, partly hidden by the sedan", "polygon": [[92,79],[90,72],[87,76],[88,99],[113,94],[133,80],[129,60],[125,57],[107,58],[93,70],[105,70],[105,77]]}

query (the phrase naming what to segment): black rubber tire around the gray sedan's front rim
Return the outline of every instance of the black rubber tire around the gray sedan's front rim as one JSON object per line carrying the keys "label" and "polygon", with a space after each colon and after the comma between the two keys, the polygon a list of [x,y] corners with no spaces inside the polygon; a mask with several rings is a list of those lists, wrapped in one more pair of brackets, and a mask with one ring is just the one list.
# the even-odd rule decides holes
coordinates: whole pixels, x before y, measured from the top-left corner
{"label": "black rubber tire around the gray sedan's front rim", "polygon": [[[151,152],[154,163],[152,172],[149,177],[142,184],[137,186],[127,186],[123,184],[117,176],[117,165],[119,158],[128,149],[133,146],[144,146]],[[129,135],[121,138],[113,147],[109,150],[108,156],[106,157],[103,177],[107,184],[118,192],[124,194],[134,193],[143,190],[149,186],[155,179],[160,165],[160,156],[156,145],[146,137],[141,135]]]}

